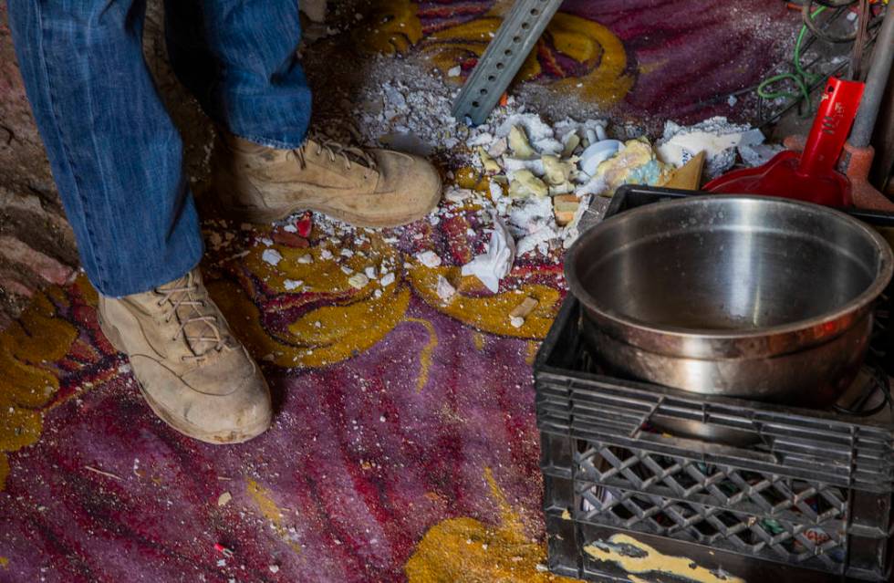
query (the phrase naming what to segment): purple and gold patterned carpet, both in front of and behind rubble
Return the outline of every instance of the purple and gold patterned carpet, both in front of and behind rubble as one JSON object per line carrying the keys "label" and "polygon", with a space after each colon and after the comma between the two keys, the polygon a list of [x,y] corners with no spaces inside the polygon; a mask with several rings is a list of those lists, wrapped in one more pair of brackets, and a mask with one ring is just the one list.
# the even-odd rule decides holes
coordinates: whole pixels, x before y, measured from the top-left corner
{"label": "purple and gold patterned carpet, both in front of and behind rubble", "polygon": [[[388,26],[357,34],[468,70],[494,9],[390,2]],[[778,51],[761,23],[784,16],[776,0],[572,0],[523,77],[631,119],[729,112],[705,102],[764,74]],[[307,241],[206,224],[205,276],[275,393],[275,426],[244,445],[192,442],[152,416],[85,279],[36,297],[0,334],[0,581],[559,580],[538,568],[531,362],[561,265],[519,261],[495,295],[460,278],[488,236],[467,236],[481,231],[470,216]],[[275,269],[265,239],[286,260]],[[349,286],[319,260],[342,248],[355,270],[394,265],[396,282]],[[422,249],[444,265],[420,265]],[[462,280],[449,307],[439,275]],[[525,295],[538,307],[513,328]]]}

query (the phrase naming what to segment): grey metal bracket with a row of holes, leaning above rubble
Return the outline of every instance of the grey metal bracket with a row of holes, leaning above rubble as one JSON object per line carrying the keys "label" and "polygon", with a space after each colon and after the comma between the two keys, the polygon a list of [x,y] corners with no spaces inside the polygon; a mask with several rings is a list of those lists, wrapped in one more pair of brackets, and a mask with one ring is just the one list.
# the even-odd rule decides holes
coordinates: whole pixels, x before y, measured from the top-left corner
{"label": "grey metal bracket with a row of holes, leaning above rubble", "polygon": [[515,2],[453,103],[453,117],[480,124],[522,68],[562,0]]}

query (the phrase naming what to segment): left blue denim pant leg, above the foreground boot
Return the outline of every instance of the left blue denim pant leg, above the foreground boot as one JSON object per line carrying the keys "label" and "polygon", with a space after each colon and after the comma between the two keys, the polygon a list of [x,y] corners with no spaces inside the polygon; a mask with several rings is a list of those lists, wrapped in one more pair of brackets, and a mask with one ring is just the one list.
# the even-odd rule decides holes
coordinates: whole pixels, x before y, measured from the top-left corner
{"label": "left blue denim pant leg, above the foreground boot", "polygon": [[16,55],[91,282],[107,296],[203,253],[182,142],[140,47],[145,0],[9,0]]}

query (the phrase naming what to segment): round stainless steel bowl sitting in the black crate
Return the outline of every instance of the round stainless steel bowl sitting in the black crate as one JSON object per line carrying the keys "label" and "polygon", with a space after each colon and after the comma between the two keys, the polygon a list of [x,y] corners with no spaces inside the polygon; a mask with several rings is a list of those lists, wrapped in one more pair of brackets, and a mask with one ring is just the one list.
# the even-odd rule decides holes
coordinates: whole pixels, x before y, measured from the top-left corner
{"label": "round stainless steel bowl sitting in the black crate", "polygon": [[620,213],[580,236],[565,270],[611,369],[822,406],[865,357],[892,263],[885,240],[845,213],[717,195]]}

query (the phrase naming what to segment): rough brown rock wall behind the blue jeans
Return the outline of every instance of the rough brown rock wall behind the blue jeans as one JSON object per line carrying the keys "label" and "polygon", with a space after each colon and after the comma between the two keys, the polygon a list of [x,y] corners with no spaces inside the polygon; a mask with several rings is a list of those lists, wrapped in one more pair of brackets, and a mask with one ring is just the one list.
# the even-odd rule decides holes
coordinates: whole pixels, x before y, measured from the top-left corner
{"label": "rough brown rock wall behind the blue jeans", "polygon": [[[319,22],[326,15],[326,0],[303,0],[301,9]],[[7,10],[0,1],[0,329],[18,316],[37,290],[63,283],[78,266],[74,234],[26,99]],[[206,172],[210,124],[167,67],[161,22],[161,2],[151,0],[146,59],[182,131],[187,168],[196,182]]]}

